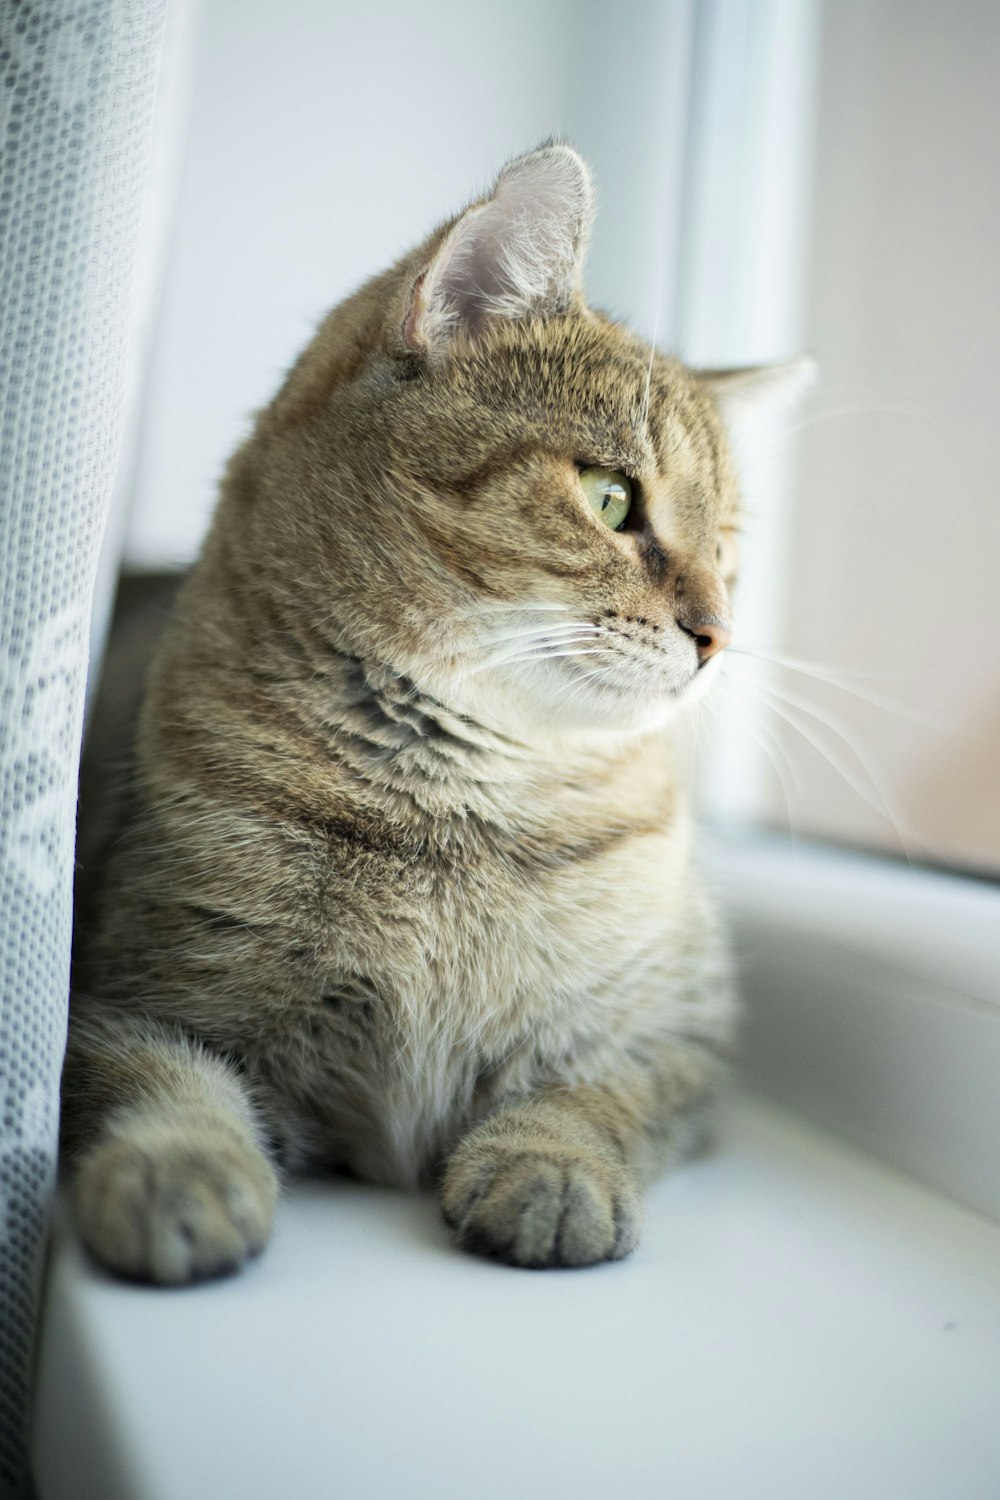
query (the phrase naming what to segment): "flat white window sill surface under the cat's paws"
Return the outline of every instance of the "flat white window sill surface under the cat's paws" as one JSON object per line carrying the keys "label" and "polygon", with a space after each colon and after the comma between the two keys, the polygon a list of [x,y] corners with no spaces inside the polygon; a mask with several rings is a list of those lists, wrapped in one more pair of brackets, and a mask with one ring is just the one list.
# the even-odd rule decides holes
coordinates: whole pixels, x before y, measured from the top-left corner
{"label": "flat white window sill surface under the cat's paws", "polygon": [[589,1272],[340,1182],[193,1290],[60,1234],[34,1446],[40,1500],[981,1500],[999,1408],[1000,1227],[750,1098]]}

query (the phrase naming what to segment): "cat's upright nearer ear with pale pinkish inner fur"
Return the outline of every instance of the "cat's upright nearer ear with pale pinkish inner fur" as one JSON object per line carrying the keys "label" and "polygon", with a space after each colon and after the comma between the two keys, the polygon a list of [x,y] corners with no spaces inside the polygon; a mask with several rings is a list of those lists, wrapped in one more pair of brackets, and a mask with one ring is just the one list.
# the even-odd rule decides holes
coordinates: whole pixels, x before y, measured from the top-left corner
{"label": "cat's upright nearer ear with pale pinkish inner fur", "polygon": [[433,354],[496,318],[565,312],[580,290],[592,218],[591,174],[571,147],[514,158],[414,282],[403,342]]}

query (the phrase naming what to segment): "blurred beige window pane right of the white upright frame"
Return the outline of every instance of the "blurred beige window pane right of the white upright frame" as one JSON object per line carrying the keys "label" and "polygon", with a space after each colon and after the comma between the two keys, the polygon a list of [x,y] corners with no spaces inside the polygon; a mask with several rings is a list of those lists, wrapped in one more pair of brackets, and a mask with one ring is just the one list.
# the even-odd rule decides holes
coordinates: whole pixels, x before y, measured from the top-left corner
{"label": "blurred beige window pane right of the white upright frame", "polygon": [[783,644],[867,696],[784,680],[841,768],[783,736],[792,824],[1000,870],[1000,6],[825,16],[807,300],[823,388]]}

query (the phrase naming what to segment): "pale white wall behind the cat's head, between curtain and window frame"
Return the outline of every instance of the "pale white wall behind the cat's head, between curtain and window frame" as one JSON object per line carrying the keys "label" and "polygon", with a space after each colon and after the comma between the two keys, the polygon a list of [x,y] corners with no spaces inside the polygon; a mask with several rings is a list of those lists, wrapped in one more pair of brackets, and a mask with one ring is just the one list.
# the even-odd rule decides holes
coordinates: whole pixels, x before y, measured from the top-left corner
{"label": "pale white wall behind the cat's head, between curtain and window frame", "polygon": [[[594,300],[670,340],[693,0],[202,0],[126,561],[189,561],[319,316],[552,132],[595,166]],[[666,294],[663,288],[666,286]]]}

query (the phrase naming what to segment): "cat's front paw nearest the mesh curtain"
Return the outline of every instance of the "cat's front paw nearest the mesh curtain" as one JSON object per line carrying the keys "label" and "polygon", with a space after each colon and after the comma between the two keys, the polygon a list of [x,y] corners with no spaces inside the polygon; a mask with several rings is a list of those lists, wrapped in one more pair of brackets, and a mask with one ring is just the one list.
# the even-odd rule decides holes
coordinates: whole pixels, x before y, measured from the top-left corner
{"label": "cat's front paw nearest the mesh curtain", "polygon": [[81,1158],[81,1238],[109,1270],[175,1286],[235,1270],[271,1233],[277,1178],[241,1130],[135,1113]]}

